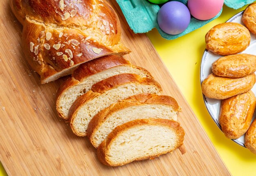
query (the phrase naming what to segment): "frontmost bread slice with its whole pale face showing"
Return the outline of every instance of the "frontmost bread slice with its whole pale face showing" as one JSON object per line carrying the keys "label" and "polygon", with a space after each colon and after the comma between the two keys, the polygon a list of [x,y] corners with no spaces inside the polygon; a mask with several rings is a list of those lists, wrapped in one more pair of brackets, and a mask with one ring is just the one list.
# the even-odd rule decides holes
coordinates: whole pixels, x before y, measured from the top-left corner
{"label": "frontmost bread slice with its whole pale face showing", "polygon": [[97,150],[101,163],[120,166],[154,158],[182,146],[184,130],[167,119],[137,119],[117,126]]}

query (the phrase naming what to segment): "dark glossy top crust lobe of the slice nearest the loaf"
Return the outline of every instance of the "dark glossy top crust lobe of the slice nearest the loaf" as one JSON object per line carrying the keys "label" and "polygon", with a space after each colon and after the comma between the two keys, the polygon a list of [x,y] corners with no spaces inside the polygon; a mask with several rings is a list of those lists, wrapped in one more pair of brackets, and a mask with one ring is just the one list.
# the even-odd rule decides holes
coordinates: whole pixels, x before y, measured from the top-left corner
{"label": "dark glossy top crust lobe of the slice nearest the loaf", "polygon": [[76,80],[83,81],[88,76],[97,74],[118,65],[130,65],[130,62],[121,56],[103,56],[101,58],[81,64],[77,69],[74,70],[72,77]]}

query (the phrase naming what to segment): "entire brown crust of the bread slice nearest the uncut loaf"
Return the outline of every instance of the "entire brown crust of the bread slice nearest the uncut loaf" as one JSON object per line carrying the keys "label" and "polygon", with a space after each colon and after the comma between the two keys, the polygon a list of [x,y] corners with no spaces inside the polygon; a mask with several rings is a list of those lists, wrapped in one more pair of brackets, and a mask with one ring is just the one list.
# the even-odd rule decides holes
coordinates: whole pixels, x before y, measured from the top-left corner
{"label": "entire brown crust of the bread slice nearest the uncut loaf", "polygon": [[93,74],[97,74],[101,71],[105,71],[112,67],[121,66],[121,65],[127,65],[130,67],[139,69],[143,71],[148,78],[153,79],[153,76],[151,76],[151,74],[146,69],[131,65],[128,60],[125,60],[121,56],[103,56],[101,58],[97,58],[89,62],[85,62],[84,64],[81,64],[77,69],[75,69],[72,74],[72,77],[68,78],[59,87],[56,93],[56,109],[57,109],[58,115],[61,118],[68,119],[68,117],[64,116],[64,114],[61,113],[61,109],[60,109],[61,96],[63,96],[63,94],[66,91],[68,91],[68,89],[74,87],[75,85],[81,84],[86,78],[88,78],[89,76],[92,76]]}

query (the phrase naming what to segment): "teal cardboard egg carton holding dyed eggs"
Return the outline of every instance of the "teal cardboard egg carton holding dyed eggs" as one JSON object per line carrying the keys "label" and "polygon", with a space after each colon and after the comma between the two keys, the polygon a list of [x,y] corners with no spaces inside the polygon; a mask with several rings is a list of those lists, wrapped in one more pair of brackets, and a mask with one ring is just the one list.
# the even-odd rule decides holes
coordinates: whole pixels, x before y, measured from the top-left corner
{"label": "teal cardboard egg carton holding dyed eggs", "polygon": [[[176,0],[182,2],[183,4],[187,5],[188,0]],[[224,0],[224,3],[233,9],[239,9],[247,4],[254,2],[255,0]],[[186,35],[198,29],[207,23],[211,22],[212,20],[218,18],[221,11],[214,17],[209,20],[198,20],[191,16],[191,20],[189,23],[188,28],[180,34],[177,35],[170,35],[165,33],[160,29],[157,23],[157,13],[160,9],[159,5],[152,4],[148,2],[148,0],[117,0],[121,10],[124,13],[124,16],[128,22],[128,25],[135,33],[146,33],[153,28],[156,28],[160,35],[167,39],[173,40],[175,38],[179,38],[181,36]]]}

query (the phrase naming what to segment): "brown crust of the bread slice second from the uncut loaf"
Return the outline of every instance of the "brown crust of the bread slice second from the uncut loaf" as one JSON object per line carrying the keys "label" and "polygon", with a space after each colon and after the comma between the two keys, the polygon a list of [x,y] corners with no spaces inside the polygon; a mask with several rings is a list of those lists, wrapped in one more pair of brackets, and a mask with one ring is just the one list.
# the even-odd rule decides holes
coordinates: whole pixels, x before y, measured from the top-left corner
{"label": "brown crust of the bread slice second from the uncut loaf", "polygon": [[77,98],[76,101],[73,103],[73,105],[70,107],[68,116],[70,119],[70,126],[74,134],[76,134],[77,136],[87,135],[87,133],[86,134],[79,133],[73,127],[74,118],[76,117],[76,114],[79,111],[79,109],[83,107],[85,103],[89,102],[96,96],[103,94],[105,91],[108,91],[109,89],[113,89],[115,87],[130,83],[130,82],[137,82],[138,84],[145,84],[145,85],[156,85],[159,88],[159,90],[162,91],[161,86],[155,80],[150,78],[141,78],[136,74],[119,74],[119,75],[115,75],[110,78],[107,78],[105,80],[102,80],[100,82],[97,82],[92,86],[92,89],[90,91],[88,91],[87,93]]}

